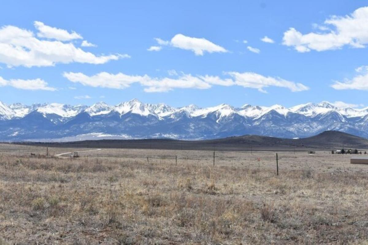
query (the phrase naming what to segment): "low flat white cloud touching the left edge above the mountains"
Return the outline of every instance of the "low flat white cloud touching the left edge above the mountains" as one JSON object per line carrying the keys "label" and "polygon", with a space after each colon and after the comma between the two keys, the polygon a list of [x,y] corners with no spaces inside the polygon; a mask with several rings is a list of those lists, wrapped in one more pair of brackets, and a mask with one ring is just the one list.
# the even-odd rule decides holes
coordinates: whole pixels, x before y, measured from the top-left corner
{"label": "low flat white cloud touching the left edge above the mountains", "polygon": [[49,87],[48,84],[42,79],[10,79],[6,80],[0,77],[0,86],[11,86],[16,89],[24,89],[24,90],[48,90],[55,91],[56,89],[53,87]]}

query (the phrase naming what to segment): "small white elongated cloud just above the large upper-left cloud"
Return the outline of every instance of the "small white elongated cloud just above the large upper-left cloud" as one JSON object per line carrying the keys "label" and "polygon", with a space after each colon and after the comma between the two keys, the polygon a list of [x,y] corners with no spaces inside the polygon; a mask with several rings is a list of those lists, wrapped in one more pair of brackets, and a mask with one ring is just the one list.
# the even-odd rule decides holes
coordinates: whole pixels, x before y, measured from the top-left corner
{"label": "small white elongated cloud just above the large upper-left cloud", "polygon": [[33,24],[35,25],[35,28],[38,30],[38,33],[37,33],[38,37],[56,39],[59,41],[70,41],[73,39],[83,39],[83,37],[80,34],[74,31],[69,33],[67,30],[47,26],[40,21],[35,21]]}

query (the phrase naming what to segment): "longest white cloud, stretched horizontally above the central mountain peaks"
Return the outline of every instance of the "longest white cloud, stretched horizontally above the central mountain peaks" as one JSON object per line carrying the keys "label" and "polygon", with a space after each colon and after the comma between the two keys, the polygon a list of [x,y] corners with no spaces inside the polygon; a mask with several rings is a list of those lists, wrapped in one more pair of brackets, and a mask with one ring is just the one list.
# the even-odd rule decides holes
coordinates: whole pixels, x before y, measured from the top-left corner
{"label": "longest white cloud, stretched horizontally above the central mountain peaks", "polygon": [[139,83],[146,92],[166,92],[173,89],[209,89],[217,86],[242,86],[245,88],[258,89],[265,93],[266,87],[284,87],[293,92],[308,90],[301,83],[290,82],[281,78],[265,77],[252,72],[227,72],[226,76],[182,74],[176,78],[152,78],[148,75],[127,75],[124,73],[111,74],[101,72],[93,76],[83,73],[65,72],[63,76],[74,83],[84,86],[103,87],[110,89],[125,89],[133,83]]}

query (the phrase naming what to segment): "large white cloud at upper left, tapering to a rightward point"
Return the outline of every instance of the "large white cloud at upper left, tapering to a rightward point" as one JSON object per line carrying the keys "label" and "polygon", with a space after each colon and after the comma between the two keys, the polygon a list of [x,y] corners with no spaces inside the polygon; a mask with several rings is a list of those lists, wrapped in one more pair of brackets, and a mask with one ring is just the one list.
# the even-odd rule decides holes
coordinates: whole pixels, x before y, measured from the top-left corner
{"label": "large white cloud at upper left, tapering to a rightward point", "polygon": [[0,28],[0,63],[7,66],[53,66],[56,63],[104,64],[110,60],[128,58],[126,54],[96,56],[77,48],[73,43],[42,40],[30,30],[17,26]]}

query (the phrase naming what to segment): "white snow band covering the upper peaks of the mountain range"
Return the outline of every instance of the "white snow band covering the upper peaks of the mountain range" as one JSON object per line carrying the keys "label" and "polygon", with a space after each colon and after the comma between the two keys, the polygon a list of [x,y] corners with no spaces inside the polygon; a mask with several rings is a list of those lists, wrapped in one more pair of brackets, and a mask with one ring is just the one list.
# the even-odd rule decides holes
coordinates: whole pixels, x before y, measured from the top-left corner
{"label": "white snow band covering the upper peaks of the mountain range", "polygon": [[314,117],[328,112],[335,111],[347,118],[364,117],[368,115],[368,107],[355,109],[351,107],[336,107],[330,102],[322,101],[321,103],[307,103],[296,105],[291,108],[285,108],[282,105],[272,105],[270,107],[252,106],[245,104],[241,108],[234,108],[227,104],[220,104],[215,107],[198,108],[195,105],[188,105],[182,108],[173,108],[166,104],[144,104],[137,99],[122,102],[118,105],[111,106],[105,102],[98,102],[91,107],[85,105],[63,105],[63,104],[33,104],[31,106],[14,103],[6,105],[0,103],[0,118],[9,120],[12,118],[22,118],[32,111],[37,110],[42,114],[56,114],[61,117],[70,118],[82,111],[86,111],[89,115],[105,115],[112,111],[117,111],[120,115],[128,112],[141,116],[154,115],[162,119],[164,117],[172,117],[176,112],[185,112],[190,117],[206,116],[209,113],[216,112],[218,118],[223,118],[231,114],[238,114],[248,118],[258,118],[270,111],[276,111],[280,115],[286,116],[289,112],[301,114],[308,117]]}

